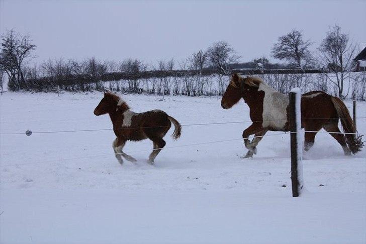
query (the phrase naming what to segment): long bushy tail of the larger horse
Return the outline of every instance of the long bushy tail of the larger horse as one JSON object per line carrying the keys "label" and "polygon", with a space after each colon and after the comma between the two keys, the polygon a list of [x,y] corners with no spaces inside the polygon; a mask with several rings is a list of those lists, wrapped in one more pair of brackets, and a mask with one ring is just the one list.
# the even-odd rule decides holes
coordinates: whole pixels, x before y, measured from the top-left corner
{"label": "long bushy tail of the larger horse", "polygon": [[334,105],[335,110],[340,118],[340,122],[343,127],[343,131],[345,133],[354,133],[354,134],[345,134],[346,142],[353,154],[361,151],[363,147],[362,135],[356,136],[356,128],[354,127],[353,120],[349,115],[348,109],[345,104],[336,97],[331,97],[330,99]]}

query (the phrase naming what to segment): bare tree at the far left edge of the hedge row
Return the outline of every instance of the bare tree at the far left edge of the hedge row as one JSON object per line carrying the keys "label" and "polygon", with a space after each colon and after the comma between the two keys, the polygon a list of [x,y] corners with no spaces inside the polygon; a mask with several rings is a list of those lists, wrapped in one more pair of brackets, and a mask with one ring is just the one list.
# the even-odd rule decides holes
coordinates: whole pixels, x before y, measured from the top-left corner
{"label": "bare tree at the far left edge of the hedge row", "polygon": [[36,45],[28,35],[16,33],[14,29],[1,36],[0,67],[8,74],[8,86],[11,90],[21,89],[25,83],[23,68],[28,58],[33,57]]}

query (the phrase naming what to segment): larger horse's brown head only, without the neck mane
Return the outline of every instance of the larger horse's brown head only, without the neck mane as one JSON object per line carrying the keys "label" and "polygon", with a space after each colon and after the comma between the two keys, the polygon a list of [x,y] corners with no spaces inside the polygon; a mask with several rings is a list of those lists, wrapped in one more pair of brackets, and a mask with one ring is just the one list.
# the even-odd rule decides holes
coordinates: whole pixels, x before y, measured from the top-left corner
{"label": "larger horse's brown head only, without the neck mane", "polygon": [[223,109],[231,108],[241,99],[242,94],[240,86],[244,85],[240,84],[240,82],[242,82],[242,79],[243,78],[236,73],[231,76],[230,83],[227,86],[224,96],[221,99],[221,107]]}

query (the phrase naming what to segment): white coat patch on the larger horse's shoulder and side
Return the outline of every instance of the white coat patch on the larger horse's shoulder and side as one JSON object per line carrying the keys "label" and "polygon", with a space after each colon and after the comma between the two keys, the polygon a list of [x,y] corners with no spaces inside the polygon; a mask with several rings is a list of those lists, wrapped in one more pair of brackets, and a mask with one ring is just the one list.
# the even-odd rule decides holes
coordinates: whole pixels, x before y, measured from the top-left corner
{"label": "white coat patch on the larger horse's shoulder and side", "polygon": [[289,105],[289,98],[265,83],[260,83],[258,91],[264,92],[262,127],[284,129],[287,122],[286,108]]}

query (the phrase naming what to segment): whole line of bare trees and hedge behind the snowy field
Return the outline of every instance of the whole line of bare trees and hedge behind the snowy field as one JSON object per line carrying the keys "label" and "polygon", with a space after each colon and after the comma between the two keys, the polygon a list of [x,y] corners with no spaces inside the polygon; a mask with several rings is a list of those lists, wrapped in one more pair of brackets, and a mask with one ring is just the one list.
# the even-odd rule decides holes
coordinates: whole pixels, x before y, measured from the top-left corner
{"label": "whole line of bare trees and hedge behind the snowy field", "polygon": [[[316,52],[310,51],[313,42],[305,40],[298,30],[280,36],[273,44],[271,55],[286,61],[285,64],[271,63],[265,57],[239,63],[240,56],[236,51],[227,42],[219,41],[179,61],[170,59],[147,64],[139,59],[101,61],[92,57],[83,61],[50,59],[30,67],[26,61],[32,58],[36,45],[29,36],[10,30],[1,36],[1,40],[0,74],[8,75],[10,91],[47,92],[59,87],[65,91],[82,92],[107,88],[129,93],[221,95],[230,73],[235,70],[251,75],[273,74],[268,77],[279,79],[273,82],[286,84],[283,87],[298,84],[304,90],[314,85],[304,78],[306,74],[319,73],[322,74],[319,77],[326,77],[335,89],[336,96],[345,97],[349,95],[349,89],[344,90],[345,80],[352,81],[352,84],[358,80],[351,75],[357,45],[351,43],[349,36],[341,33],[337,25],[330,27]],[[292,73],[298,75],[290,75]],[[3,77],[1,75],[1,86]],[[323,80],[317,82],[323,84]],[[286,90],[276,84],[273,87]]]}

